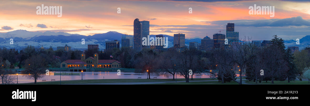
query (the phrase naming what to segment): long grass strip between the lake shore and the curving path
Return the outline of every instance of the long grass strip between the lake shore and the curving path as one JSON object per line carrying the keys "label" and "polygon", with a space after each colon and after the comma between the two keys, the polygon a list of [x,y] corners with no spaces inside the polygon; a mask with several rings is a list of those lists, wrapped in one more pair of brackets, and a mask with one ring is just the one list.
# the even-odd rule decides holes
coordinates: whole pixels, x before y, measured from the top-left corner
{"label": "long grass strip between the lake shore and the curving path", "polygon": [[[191,80],[191,79],[190,79]],[[193,78],[193,81],[198,80],[212,80],[211,78]],[[217,80],[217,79],[215,79]],[[61,84],[88,84],[88,83],[118,83],[118,82],[166,82],[175,81],[172,79],[92,79],[92,80],[67,80],[61,81]],[[185,78],[178,78],[177,81],[185,81]],[[19,84],[34,84],[32,83],[19,83]],[[37,82],[37,84],[60,84],[59,81],[52,82]]]}

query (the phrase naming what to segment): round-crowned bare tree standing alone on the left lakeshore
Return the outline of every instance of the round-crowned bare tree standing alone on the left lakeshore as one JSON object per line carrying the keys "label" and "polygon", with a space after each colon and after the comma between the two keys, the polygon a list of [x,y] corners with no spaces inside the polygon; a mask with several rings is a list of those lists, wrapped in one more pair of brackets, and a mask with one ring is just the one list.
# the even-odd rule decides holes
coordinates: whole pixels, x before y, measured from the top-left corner
{"label": "round-crowned bare tree standing alone on the left lakeshore", "polygon": [[24,67],[24,76],[29,79],[34,79],[34,83],[37,83],[37,79],[40,79],[45,75],[43,73],[45,73],[47,63],[42,56],[35,55],[25,61]]}

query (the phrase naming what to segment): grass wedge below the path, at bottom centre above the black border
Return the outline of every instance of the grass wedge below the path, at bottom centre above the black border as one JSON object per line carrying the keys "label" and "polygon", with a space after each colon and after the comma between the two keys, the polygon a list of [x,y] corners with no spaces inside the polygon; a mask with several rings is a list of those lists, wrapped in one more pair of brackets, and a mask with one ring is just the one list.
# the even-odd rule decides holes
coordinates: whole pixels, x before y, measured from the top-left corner
{"label": "grass wedge below the path, at bottom centre above the black border", "polygon": [[219,81],[191,82],[189,80],[189,83],[177,82],[177,83],[159,83],[159,84],[151,84],[151,85],[238,85],[238,83],[232,81],[232,82],[226,82],[222,84],[222,82],[219,82]]}

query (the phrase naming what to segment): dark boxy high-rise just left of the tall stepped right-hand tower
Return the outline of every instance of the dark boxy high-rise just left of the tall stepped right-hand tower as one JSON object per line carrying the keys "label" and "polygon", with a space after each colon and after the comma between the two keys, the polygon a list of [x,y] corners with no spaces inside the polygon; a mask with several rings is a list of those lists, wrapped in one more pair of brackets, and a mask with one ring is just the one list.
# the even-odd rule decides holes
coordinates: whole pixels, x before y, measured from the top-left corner
{"label": "dark boxy high-rise just left of the tall stepped right-hand tower", "polygon": [[213,34],[214,49],[224,49],[225,34],[215,33]]}

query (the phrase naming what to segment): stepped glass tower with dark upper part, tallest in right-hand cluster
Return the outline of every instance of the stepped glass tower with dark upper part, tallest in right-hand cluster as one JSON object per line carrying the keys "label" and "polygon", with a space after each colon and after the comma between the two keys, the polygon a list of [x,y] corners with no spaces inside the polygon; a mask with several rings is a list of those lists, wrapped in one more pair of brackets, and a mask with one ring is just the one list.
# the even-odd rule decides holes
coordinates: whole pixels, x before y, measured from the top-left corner
{"label": "stepped glass tower with dark upper part, tallest in right-hand cluster", "polygon": [[235,32],[235,24],[227,23],[226,25],[226,39],[228,43],[239,42],[239,32]]}

